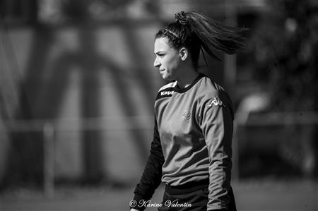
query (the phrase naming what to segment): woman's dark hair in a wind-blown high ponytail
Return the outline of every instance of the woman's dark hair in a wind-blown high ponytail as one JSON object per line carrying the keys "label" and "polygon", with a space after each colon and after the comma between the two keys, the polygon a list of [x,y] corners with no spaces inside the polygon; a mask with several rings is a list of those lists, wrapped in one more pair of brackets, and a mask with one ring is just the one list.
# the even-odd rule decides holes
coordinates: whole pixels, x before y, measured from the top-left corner
{"label": "woman's dark hair in a wind-blown high ponytail", "polygon": [[201,13],[181,11],[175,14],[175,22],[157,32],[155,39],[167,37],[171,47],[186,47],[194,67],[197,68],[201,48],[217,60],[220,59],[212,49],[225,54],[234,54],[244,49],[244,31],[243,28],[225,25]]}

